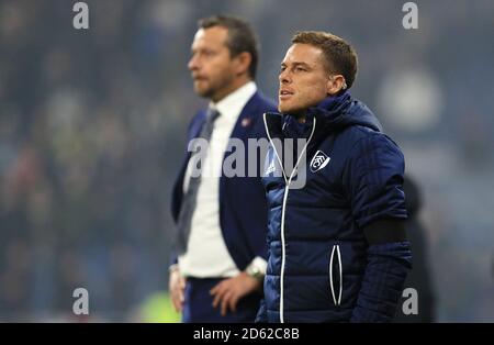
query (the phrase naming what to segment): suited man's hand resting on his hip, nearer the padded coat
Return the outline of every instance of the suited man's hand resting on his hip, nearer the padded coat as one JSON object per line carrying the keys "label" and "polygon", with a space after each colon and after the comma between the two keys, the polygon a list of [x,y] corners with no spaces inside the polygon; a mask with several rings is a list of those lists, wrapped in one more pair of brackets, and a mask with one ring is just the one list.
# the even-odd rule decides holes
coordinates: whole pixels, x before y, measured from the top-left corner
{"label": "suited man's hand resting on his hip, nearer the padded coat", "polygon": [[238,301],[250,292],[260,289],[260,287],[261,281],[246,272],[222,280],[210,291],[214,296],[213,307],[217,308],[221,304],[222,315],[225,316],[228,308],[235,312]]}

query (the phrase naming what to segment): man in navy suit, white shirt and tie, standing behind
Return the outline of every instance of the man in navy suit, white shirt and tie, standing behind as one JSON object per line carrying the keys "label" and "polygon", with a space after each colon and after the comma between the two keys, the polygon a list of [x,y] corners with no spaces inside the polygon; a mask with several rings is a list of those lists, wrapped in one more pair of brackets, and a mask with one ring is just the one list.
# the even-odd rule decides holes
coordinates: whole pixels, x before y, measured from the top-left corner
{"label": "man in navy suit, white shirt and tie, standing behind", "polygon": [[[184,322],[254,322],[259,308],[267,266],[267,203],[260,172],[248,175],[259,166],[247,159],[254,154],[248,140],[266,138],[262,114],[276,107],[252,81],[257,59],[256,37],[246,22],[234,16],[200,21],[189,69],[195,92],[211,102],[192,119],[188,142],[211,127],[209,114],[218,115],[206,134],[211,137],[201,162],[213,174],[201,172],[200,183],[192,183],[195,163],[188,151],[172,194],[176,243],[183,245],[175,246],[169,289]],[[225,176],[223,169],[232,154],[229,138],[245,148],[245,169],[238,176]]]}

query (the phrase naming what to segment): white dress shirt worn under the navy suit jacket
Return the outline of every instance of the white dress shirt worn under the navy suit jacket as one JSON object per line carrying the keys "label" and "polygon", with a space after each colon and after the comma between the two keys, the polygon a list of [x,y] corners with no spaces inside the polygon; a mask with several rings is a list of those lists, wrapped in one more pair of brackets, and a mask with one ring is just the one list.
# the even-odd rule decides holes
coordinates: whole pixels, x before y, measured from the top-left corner
{"label": "white dress shirt worn under the navy suit jacket", "polygon": [[[234,277],[239,274],[226,248],[220,227],[220,176],[223,158],[232,131],[247,101],[257,87],[250,81],[217,103],[211,103],[221,115],[214,122],[213,133],[203,163],[195,210],[192,215],[187,253],[179,257],[183,276],[195,278]],[[183,179],[187,191],[192,170],[192,159]]]}

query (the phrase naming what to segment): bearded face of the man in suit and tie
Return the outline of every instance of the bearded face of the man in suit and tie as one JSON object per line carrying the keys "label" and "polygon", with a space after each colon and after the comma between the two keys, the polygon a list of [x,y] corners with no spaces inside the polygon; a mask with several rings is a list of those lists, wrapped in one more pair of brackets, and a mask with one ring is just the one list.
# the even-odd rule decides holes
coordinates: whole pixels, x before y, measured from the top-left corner
{"label": "bearded face of the man in suit and tie", "polygon": [[192,42],[189,69],[195,92],[218,101],[232,90],[235,78],[234,60],[226,46],[228,30],[222,26],[200,29]]}

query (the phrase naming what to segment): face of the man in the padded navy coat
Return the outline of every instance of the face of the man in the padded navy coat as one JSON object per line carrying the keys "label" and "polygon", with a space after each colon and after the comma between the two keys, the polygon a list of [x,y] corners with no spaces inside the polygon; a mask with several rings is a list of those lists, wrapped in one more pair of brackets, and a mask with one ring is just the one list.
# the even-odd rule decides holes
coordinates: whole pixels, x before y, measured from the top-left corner
{"label": "face of the man in the padded navy coat", "polygon": [[281,63],[278,110],[296,114],[319,103],[328,96],[328,78],[322,49],[293,44]]}

